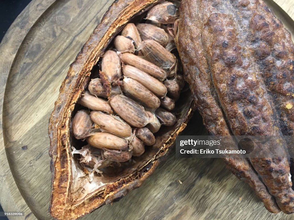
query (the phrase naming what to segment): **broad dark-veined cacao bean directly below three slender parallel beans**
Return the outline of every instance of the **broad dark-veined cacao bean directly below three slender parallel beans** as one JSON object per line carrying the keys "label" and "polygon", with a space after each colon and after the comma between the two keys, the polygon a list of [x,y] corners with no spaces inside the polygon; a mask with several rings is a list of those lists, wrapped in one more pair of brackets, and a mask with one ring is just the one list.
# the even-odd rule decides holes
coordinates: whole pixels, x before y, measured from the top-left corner
{"label": "broad dark-veined cacao bean directly below three slender parallel beans", "polygon": [[142,128],[148,123],[148,115],[143,106],[123,95],[109,98],[113,110],[129,125]]}

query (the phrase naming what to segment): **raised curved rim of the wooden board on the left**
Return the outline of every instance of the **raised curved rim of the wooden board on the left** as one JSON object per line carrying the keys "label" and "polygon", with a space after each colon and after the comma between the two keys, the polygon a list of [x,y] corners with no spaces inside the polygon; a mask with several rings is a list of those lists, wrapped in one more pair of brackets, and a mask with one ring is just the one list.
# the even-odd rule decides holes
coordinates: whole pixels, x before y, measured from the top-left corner
{"label": "raised curved rim of the wooden board on the left", "polygon": [[[4,146],[3,137],[3,124],[2,124],[2,113],[3,113],[3,99],[6,88],[6,82],[9,76],[11,66],[13,65],[14,58],[16,57],[18,50],[26,37],[30,29],[38,21],[39,17],[52,5],[56,0],[32,0],[26,8],[17,16],[15,21],[11,24],[8,31],[4,35],[0,43],[0,56],[5,57],[5,59],[0,60],[0,166],[2,167],[2,172],[0,176],[0,204],[3,210],[9,211],[23,211],[25,215],[23,217],[10,216],[10,220],[14,219],[36,219],[34,214],[31,212],[30,208],[26,204],[24,198],[21,196],[19,189],[14,182],[12,176]],[[34,13],[29,13],[33,11]],[[25,16],[28,14],[29,16]],[[32,16],[31,16],[32,15]],[[21,28],[20,28],[21,23]],[[14,34],[17,33],[17,34]],[[11,192],[8,194],[8,192]]]}

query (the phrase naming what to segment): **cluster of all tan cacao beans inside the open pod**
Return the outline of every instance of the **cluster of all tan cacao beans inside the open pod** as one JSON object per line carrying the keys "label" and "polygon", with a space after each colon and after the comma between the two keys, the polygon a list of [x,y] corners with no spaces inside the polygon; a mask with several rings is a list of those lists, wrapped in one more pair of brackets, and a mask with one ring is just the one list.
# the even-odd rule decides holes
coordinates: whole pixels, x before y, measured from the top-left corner
{"label": "cluster of all tan cacao beans inside the open pod", "polygon": [[88,143],[73,147],[82,166],[101,173],[141,156],[161,126],[176,123],[172,111],[185,86],[174,54],[177,19],[176,4],[157,4],[146,23],[128,23],[102,55],[71,123],[74,138]]}

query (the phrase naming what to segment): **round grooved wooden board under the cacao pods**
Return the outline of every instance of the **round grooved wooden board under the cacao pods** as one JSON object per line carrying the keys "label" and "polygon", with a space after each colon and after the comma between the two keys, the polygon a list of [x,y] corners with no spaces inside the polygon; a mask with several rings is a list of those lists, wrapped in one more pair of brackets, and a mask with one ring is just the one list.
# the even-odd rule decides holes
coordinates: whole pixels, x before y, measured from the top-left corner
{"label": "round grooved wooden board under the cacao pods", "polygon": [[[267,2],[293,30],[294,1],[275,0],[289,16]],[[25,212],[9,219],[52,219],[49,115],[69,65],[111,3],[33,0],[0,44],[0,203],[5,211]],[[186,133],[193,131],[190,125]],[[266,211],[222,160],[177,159],[172,153],[140,188],[82,219],[293,218]]]}

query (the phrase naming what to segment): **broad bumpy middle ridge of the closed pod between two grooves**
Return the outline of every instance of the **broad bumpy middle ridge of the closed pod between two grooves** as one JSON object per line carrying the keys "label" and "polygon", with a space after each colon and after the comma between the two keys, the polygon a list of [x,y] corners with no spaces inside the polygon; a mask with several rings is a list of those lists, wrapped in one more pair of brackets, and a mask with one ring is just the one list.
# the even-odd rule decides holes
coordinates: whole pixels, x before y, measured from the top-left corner
{"label": "broad bumpy middle ridge of the closed pod between two grooves", "polygon": [[[272,108],[275,104],[267,94],[255,60],[246,56],[248,42],[241,34],[237,36],[239,28],[230,15],[223,13],[212,13],[203,27],[204,47],[220,105],[234,135],[281,135]],[[241,54],[244,55],[241,57]],[[286,155],[283,145],[276,145],[278,149]],[[270,151],[270,145],[266,143],[260,150]],[[294,207],[289,201],[294,192],[292,182],[287,180],[290,172],[287,159],[284,157],[271,164],[264,163],[265,160],[267,158],[252,158],[250,162],[280,209],[292,213]]]}

